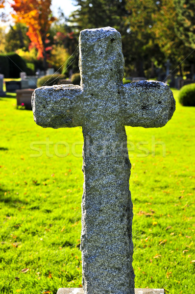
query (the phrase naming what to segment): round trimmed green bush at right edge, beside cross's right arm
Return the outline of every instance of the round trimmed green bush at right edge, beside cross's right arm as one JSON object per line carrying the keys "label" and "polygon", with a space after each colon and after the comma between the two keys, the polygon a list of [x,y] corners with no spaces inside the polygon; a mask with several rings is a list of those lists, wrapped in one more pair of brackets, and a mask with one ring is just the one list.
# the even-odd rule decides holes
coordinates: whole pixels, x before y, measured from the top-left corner
{"label": "round trimmed green bush at right edge, beside cross's right arm", "polygon": [[185,85],[180,89],[179,102],[183,106],[195,106],[195,83]]}

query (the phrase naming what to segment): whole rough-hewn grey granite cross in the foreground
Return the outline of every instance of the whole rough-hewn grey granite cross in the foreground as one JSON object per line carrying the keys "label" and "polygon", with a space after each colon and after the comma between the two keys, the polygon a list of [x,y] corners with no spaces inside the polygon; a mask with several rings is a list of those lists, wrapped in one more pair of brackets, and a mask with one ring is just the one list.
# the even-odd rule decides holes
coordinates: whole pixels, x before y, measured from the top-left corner
{"label": "whole rough-hewn grey granite cross in the foreground", "polygon": [[80,86],[34,91],[34,120],[42,127],[82,126],[82,276],[85,294],[133,294],[132,201],[125,125],[162,127],[175,110],[162,82],[123,85],[120,33],[85,29],[79,37]]}

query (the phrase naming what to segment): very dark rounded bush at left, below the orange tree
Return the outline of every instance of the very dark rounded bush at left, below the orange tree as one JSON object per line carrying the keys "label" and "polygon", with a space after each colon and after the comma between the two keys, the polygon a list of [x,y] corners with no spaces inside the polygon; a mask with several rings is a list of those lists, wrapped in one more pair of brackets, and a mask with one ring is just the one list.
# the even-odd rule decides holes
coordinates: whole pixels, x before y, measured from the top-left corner
{"label": "very dark rounded bush at left, below the orange tree", "polygon": [[22,57],[16,53],[8,53],[7,57],[9,61],[9,77],[19,78],[21,72],[26,72],[26,63]]}

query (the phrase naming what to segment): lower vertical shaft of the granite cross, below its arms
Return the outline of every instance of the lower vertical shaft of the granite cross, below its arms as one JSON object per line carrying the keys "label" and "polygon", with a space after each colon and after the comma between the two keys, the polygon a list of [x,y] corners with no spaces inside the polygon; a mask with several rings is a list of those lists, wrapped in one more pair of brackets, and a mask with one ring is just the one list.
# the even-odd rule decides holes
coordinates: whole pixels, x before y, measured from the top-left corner
{"label": "lower vertical shaft of the granite cross, below its arms", "polygon": [[126,133],[124,126],[113,122],[108,122],[103,132],[98,128],[83,126],[82,284],[90,294],[104,294],[105,290],[133,294],[133,212]]}

